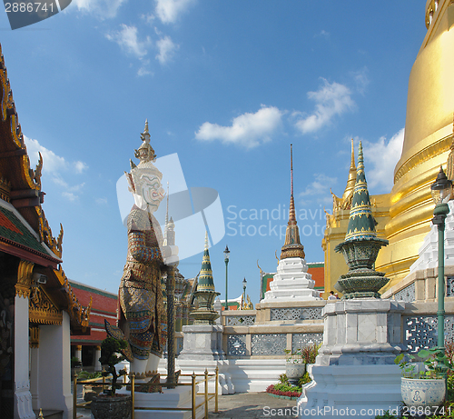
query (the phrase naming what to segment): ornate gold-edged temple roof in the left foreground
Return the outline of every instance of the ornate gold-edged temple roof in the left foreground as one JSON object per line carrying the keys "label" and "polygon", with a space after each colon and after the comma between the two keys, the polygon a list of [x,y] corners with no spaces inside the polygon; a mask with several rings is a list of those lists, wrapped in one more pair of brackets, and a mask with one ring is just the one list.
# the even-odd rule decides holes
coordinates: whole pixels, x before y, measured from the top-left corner
{"label": "ornate gold-edged temple roof in the left foreground", "polygon": [[[46,283],[39,289],[56,310],[68,312],[72,332],[85,333],[89,329],[90,304],[86,308],[79,304],[60,265],[63,227],[60,224],[60,234],[54,238],[41,206],[42,169],[41,155],[35,170],[30,167],[0,45],[0,252],[20,258],[29,266],[28,274],[21,276],[21,280],[27,279],[20,284],[19,295],[30,293],[32,284],[27,281],[32,274],[45,275]],[[15,281],[17,285],[18,279]]]}

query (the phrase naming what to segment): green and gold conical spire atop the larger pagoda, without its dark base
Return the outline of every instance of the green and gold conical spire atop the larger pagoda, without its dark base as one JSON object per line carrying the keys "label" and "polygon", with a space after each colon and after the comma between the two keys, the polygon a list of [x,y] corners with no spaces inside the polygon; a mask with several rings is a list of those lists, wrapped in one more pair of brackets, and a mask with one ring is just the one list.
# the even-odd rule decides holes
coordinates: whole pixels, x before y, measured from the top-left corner
{"label": "green and gold conical spire atop the larger pagoda, without its dark base", "polygon": [[350,219],[345,235],[345,241],[373,240],[377,238],[375,218],[370,209],[370,197],[366,174],[364,172],[364,158],[362,145],[358,151],[358,168],[356,170],[356,183],[351,199]]}

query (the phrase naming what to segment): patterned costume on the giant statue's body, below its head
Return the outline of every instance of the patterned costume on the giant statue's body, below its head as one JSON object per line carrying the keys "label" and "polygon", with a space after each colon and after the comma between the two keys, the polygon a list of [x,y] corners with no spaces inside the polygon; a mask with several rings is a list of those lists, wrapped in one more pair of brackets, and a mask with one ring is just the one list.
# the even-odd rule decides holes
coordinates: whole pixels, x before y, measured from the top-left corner
{"label": "patterned costume on the giant statue's body, below its head", "polygon": [[166,313],[161,289],[163,235],[152,214],[133,206],[128,216],[128,255],[120,284],[120,327],[129,325],[133,356],[162,356],[166,341]]}

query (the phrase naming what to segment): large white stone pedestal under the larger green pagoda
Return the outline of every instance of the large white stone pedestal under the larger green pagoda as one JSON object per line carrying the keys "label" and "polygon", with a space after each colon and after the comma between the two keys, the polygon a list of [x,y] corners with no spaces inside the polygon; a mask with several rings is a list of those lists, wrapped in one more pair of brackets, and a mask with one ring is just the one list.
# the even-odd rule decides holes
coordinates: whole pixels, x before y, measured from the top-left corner
{"label": "large white stone pedestal under the larger green pagoda", "polygon": [[[326,304],[323,345],[298,399],[304,418],[375,418],[401,405],[400,318],[405,303],[357,299]],[[349,410],[349,414],[346,410]],[[354,411],[354,413],[353,413]]]}

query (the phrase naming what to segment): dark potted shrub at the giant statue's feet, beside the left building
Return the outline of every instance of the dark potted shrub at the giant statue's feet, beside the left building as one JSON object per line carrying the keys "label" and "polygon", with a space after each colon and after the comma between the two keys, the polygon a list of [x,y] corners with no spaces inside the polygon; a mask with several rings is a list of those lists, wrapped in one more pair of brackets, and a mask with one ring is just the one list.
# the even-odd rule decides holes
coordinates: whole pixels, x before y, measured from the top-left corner
{"label": "dark potted shrub at the giant statue's feet, beside the left building", "polygon": [[116,390],[121,388],[117,384],[118,377],[126,374],[124,370],[117,373],[115,365],[121,363],[125,356],[121,350],[127,347],[127,342],[117,340],[113,337],[107,337],[101,344],[101,357],[99,362],[105,365],[104,376],[112,374],[112,384],[110,388],[104,389],[102,394],[94,397],[92,400],[92,414],[94,419],[129,419],[133,402],[128,394],[116,394]]}

